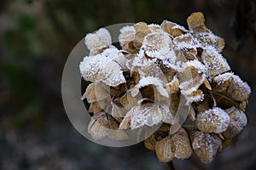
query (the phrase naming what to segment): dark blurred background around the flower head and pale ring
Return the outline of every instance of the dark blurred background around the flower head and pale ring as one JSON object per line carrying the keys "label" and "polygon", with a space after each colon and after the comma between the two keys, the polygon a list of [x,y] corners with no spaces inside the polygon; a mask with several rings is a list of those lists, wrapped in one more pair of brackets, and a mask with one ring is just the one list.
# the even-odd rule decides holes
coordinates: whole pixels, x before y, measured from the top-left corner
{"label": "dark blurred background around the flower head and pale ring", "polygon": [[[61,101],[61,73],[86,33],[117,23],[172,20],[202,11],[224,37],[224,56],[256,86],[255,0],[0,0],[0,169],[168,169],[143,144],[108,148],[84,139]],[[79,87],[78,87],[79,88]],[[248,125],[209,165],[193,156],[176,169],[256,169],[256,96]]]}

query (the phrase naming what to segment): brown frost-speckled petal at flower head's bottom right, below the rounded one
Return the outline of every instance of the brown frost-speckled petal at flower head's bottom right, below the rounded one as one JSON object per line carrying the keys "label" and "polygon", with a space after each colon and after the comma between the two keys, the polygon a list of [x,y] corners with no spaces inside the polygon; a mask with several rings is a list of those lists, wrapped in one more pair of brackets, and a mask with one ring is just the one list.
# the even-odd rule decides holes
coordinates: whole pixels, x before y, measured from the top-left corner
{"label": "brown frost-speckled petal at flower head's bottom right, below the rounded one", "polygon": [[218,150],[221,149],[221,139],[213,133],[196,131],[191,134],[190,138],[196,156],[204,163],[213,161]]}

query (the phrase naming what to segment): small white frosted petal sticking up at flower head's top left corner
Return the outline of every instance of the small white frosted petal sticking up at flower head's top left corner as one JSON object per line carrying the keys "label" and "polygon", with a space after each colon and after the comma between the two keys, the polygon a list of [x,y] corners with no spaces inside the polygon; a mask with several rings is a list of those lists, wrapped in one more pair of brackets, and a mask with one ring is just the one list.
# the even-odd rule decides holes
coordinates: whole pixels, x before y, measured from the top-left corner
{"label": "small white frosted petal sticking up at flower head's top left corner", "polygon": [[111,36],[107,29],[101,28],[95,33],[89,33],[84,37],[84,43],[90,50],[107,48],[111,43]]}

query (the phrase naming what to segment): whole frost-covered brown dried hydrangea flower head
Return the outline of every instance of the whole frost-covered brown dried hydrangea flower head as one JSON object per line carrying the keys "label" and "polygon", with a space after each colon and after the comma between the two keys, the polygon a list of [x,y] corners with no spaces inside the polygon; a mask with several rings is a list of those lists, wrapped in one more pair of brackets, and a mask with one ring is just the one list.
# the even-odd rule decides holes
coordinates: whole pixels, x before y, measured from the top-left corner
{"label": "whole frost-covered brown dried hydrangea flower head", "polygon": [[187,23],[189,30],[168,20],[125,26],[120,49],[104,28],[86,35],[90,55],[79,69],[91,82],[82,99],[90,104],[92,139],[125,140],[126,129],[159,126],[144,144],[160,161],[194,152],[210,163],[241,133],[251,89],[231,72],[224,39],[205,26],[204,15],[193,13]]}

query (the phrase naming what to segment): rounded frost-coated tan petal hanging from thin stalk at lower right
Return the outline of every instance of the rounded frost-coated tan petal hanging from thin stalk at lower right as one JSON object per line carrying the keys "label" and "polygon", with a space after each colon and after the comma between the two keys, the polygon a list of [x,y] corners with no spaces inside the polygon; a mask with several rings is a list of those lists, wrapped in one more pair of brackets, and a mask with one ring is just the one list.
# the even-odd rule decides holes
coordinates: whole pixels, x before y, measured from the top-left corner
{"label": "rounded frost-coated tan petal hanging from thin stalk at lower right", "polygon": [[199,113],[196,125],[203,133],[222,133],[230,125],[230,116],[222,109],[215,107]]}

